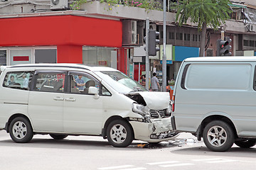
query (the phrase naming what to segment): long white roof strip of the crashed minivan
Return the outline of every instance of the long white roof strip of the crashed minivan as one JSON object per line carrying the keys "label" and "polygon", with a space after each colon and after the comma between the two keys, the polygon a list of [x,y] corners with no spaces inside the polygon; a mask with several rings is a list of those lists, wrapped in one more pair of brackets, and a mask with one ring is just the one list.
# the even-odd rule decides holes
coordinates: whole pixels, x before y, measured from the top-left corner
{"label": "long white roof strip of the crashed minivan", "polygon": [[71,63],[43,63],[43,64],[17,64],[11,66],[9,68],[17,68],[17,67],[68,67],[68,68],[75,68],[75,69],[87,69],[91,71],[117,71],[117,69],[113,69],[111,67],[100,67],[100,66],[87,66],[84,64],[71,64]]}

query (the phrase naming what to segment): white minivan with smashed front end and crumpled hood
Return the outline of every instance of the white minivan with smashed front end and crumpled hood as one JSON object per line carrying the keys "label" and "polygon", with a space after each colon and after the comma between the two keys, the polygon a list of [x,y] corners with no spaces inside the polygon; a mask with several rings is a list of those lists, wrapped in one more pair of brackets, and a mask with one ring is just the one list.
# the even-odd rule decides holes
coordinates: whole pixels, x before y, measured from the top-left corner
{"label": "white minivan with smashed front end and crumpled hood", "polygon": [[169,93],[149,92],[122,72],[82,64],[1,67],[0,130],[14,142],[99,135],[114,147],[161,142],[171,129]]}

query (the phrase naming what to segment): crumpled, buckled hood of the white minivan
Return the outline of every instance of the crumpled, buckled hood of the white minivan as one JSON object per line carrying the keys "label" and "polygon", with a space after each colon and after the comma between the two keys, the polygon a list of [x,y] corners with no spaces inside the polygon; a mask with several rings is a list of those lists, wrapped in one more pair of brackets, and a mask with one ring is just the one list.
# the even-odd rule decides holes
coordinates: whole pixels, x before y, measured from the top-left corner
{"label": "crumpled, buckled hood of the white minivan", "polygon": [[[168,92],[137,91],[125,95],[132,98],[134,101],[137,101],[139,104],[146,104],[150,109],[162,110],[168,108],[170,103],[170,94]],[[138,96],[142,96],[144,101]]]}

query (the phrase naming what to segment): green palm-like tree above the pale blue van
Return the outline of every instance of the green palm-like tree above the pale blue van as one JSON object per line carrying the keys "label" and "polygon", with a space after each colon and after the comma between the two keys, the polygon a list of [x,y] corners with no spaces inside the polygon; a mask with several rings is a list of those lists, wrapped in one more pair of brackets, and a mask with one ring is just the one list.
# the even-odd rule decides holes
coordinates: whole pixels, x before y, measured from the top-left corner
{"label": "green palm-like tree above the pale blue van", "polygon": [[228,15],[231,12],[229,3],[229,0],[183,0],[174,5],[177,10],[178,26],[186,24],[190,19],[192,23],[197,23],[198,29],[201,30],[199,56],[203,57],[206,47],[206,27],[210,26],[216,30],[230,18]]}

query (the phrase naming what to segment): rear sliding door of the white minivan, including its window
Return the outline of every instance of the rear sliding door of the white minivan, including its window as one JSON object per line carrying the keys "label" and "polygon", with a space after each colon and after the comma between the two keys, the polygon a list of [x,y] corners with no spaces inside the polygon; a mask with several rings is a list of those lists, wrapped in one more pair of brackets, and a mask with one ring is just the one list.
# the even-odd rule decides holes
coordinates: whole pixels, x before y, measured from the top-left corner
{"label": "rear sliding door of the white minivan, including its window", "polygon": [[38,70],[28,99],[33,130],[63,132],[65,71]]}

